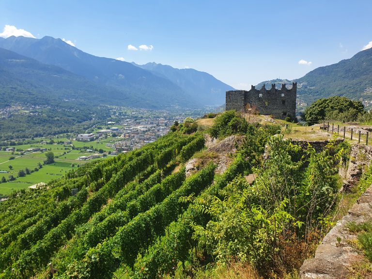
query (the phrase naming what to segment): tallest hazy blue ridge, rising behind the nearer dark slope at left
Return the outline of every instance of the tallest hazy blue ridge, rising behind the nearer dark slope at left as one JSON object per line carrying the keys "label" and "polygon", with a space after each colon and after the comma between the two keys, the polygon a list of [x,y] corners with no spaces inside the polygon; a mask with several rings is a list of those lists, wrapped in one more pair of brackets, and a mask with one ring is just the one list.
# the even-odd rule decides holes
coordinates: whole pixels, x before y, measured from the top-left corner
{"label": "tallest hazy blue ridge, rising behind the nearer dark slope at left", "polygon": [[100,85],[103,92],[115,92],[109,96],[109,103],[116,100],[117,105],[142,108],[195,105],[181,88],[169,80],[128,62],[90,55],[61,39],[46,36],[38,40],[12,36],[0,40],[0,47],[14,49],[21,55],[90,79]]}

